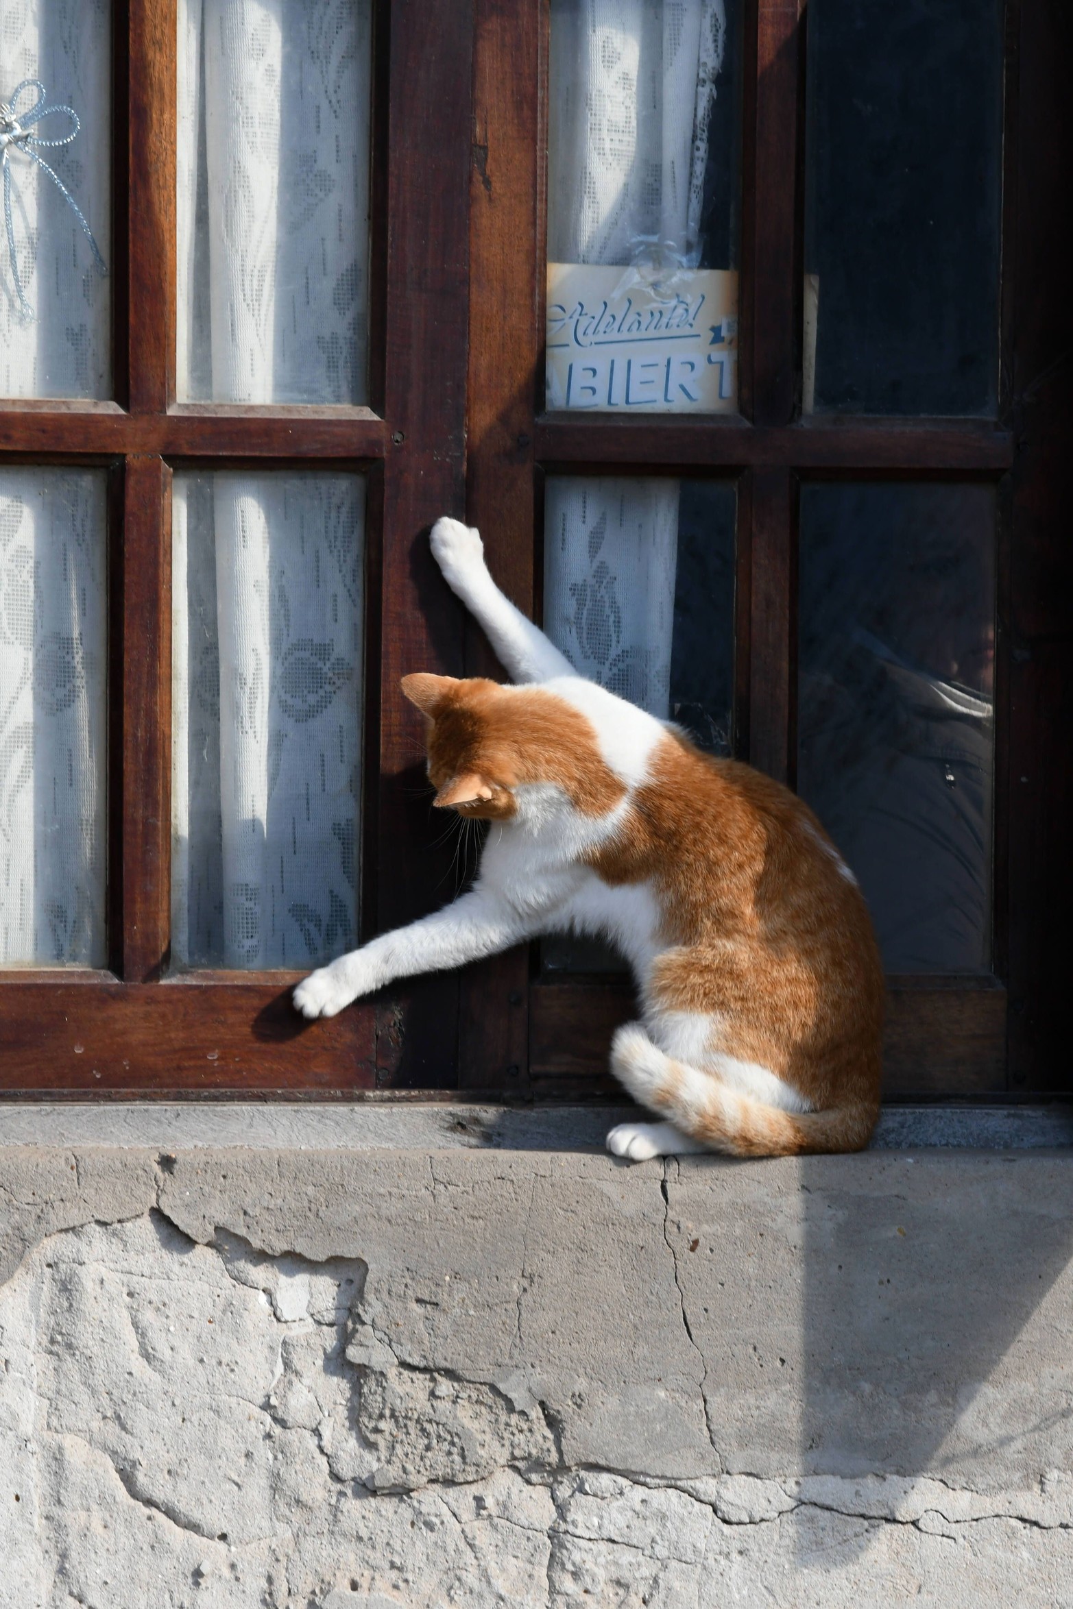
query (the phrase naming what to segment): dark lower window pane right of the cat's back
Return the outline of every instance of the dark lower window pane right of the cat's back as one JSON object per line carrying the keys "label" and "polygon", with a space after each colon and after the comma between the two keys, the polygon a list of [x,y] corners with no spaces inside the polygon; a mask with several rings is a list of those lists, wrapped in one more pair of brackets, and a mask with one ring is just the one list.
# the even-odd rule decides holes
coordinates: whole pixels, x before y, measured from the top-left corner
{"label": "dark lower window pane right of the cat's back", "polygon": [[804,486],[798,788],[890,972],[991,957],[994,492]]}

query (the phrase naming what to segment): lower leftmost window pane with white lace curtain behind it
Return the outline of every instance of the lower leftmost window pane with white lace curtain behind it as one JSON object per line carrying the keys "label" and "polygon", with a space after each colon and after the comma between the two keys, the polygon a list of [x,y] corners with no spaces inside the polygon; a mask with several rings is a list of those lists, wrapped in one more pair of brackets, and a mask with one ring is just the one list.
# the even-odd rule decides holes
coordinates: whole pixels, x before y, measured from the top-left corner
{"label": "lower leftmost window pane with white lace curtain behind it", "polygon": [[0,470],[0,965],[106,964],[106,484]]}

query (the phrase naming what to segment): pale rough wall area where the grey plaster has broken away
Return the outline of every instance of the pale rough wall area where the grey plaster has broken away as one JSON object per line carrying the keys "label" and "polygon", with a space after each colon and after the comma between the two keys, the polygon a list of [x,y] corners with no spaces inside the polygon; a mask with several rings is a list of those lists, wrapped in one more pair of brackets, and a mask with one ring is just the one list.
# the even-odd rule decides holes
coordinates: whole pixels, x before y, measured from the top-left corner
{"label": "pale rough wall area where the grey plaster has broken away", "polygon": [[1042,1609],[1073,1580],[1068,1472],[571,1471],[545,1411],[401,1363],[367,1279],[158,1213],[42,1242],[0,1290],[0,1606]]}

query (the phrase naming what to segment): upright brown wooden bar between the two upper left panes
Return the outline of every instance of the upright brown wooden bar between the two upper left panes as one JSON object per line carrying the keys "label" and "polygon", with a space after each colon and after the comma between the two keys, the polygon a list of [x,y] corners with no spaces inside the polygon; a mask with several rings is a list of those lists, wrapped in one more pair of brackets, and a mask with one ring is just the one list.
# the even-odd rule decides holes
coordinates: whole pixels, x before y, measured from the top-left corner
{"label": "upright brown wooden bar between the two upper left panes", "polygon": [[[162,414],[175,385],[177,0],[125,0],[129,113],[124,195],[129,314],[122,335],[132,414]],[[119,196],[116,196],[119,201]],[[153,451],[127,446],[125,451]],[[159,451],[159,449],[156,449]]]}

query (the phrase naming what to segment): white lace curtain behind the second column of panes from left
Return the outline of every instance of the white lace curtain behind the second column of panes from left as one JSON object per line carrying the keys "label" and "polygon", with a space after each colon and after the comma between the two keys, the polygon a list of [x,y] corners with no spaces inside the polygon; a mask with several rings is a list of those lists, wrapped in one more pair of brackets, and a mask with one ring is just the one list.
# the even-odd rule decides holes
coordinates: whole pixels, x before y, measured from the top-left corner
{"label": "white lace curtain behind the second column of panes from left", "polygon": [[[180,0],[179,396],[367,399],[370,0]],[[172,961],[357,920],[364,483],[177,476]]]}

